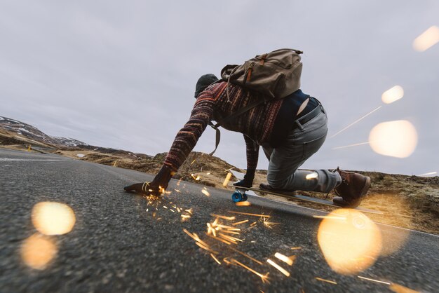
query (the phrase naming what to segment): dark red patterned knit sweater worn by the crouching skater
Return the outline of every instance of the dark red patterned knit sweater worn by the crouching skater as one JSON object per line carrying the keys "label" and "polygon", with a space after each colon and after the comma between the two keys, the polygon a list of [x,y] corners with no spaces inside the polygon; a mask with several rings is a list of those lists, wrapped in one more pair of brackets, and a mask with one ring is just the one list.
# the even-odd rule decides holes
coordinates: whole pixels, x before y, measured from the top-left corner
{"label": "dark red patterned knit sweater worn by the crouching skater", "polygon": [[[196,99],[191,117],[177,133],[164,165],[177,172],[186,160],[209,121],[229,116],[238,109],[254,101],[254,93],[248,93],[241,86],[229,83],[229,100],[227,99],[227,82],[208,86]],[[252,96],[253,95],[253,96]],[[247,149],[247,168],[255,170],[259,154],[259,145],[269,142],[269,137],[283,100],[265,102],[222,125],[227,130],[241,132]]]}

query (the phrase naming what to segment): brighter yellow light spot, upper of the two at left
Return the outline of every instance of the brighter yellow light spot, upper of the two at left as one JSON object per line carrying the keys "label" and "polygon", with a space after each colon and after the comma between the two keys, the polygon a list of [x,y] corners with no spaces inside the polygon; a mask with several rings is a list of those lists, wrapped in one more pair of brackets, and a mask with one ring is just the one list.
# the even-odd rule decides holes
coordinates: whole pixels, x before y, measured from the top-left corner
{"label": "brighter yellow light spot, upper of the two at left", "polygon": [[41,202],[32,209],[32,224],[45,235],[62,235],[72,231],[75,214],[64,203]]}

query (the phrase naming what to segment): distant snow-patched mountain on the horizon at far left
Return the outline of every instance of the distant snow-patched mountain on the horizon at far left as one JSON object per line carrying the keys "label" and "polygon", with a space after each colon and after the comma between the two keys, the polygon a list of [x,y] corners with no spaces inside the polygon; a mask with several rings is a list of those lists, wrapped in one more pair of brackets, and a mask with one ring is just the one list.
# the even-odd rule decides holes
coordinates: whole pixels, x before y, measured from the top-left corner
{"label": "distant snow-patched mountain on the horizon at far left", "polygon": [[15,133],[16,136],[14,138],[19,140],[20,137],[22,137],[41,144],[51,144],[53,146],[61,147],[77,147],[79,145],[88,146],[85,142],[81,142],[77,139],[51,137],[32,125],[2,116],[0,116],[0,129]]}

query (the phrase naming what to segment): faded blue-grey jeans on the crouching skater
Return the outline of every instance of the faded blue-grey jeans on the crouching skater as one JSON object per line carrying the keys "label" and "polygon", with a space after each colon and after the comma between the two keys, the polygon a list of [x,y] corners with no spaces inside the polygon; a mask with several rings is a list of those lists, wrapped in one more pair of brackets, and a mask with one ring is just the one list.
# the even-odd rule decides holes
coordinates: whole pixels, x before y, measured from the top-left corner
{"label": "faded blue-grey jeans on the crouching skater", "polygon": [[[319,105],[318,107],[321,109],[320,113],[303,125],[299,123],[299,120],[295,121],[295,127],[290,131],[281,147],[276,149],[262,147],[265,156],[270,161],[267,181],[274,189],[326,193],[342,182],[342,177],[338,172],[297,170],[325,142],[327,116],[323,106]],[[312,173],[317,173],[317,176],[306,179],[306,176]]]}

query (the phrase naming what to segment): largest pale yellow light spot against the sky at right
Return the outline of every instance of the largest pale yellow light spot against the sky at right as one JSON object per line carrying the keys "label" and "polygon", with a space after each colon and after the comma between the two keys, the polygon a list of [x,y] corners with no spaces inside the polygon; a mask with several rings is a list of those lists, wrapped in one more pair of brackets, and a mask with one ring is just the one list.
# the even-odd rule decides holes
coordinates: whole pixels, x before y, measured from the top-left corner
{"label": "largest pale yellow light spot against the sky at right", "polygon": [[369,142],[377,154],[407,158],[416,149],[418,135],[409,121],[389,121],[379,123],[370,130]]}

